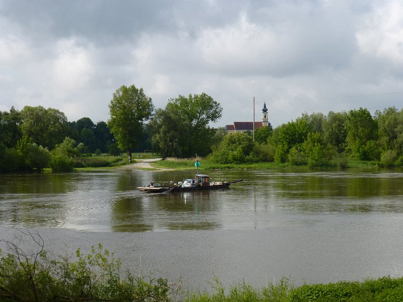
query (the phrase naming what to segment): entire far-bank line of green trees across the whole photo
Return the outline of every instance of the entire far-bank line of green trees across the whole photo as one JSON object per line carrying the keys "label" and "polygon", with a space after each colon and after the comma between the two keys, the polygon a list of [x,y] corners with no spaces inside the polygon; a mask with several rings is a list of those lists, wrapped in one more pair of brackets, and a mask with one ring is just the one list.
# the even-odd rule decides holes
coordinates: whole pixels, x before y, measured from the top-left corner
{"label": "entire far-bank line of green trees across the whole photo", "polygon": [[228,134],[212,128],[222,116],[211,96],[179,95],[155,110],[142,88],[121,86],[113,93],[107,122],[83,117],[69,122],[63,112],[42,106],[0,111],[0,171],[54,171],[72,167],[79,156],[153,149],[163,158],[210,156],[217,163],[290,163],[309,167],[346,165],[348,159],[403,163],[403,111],[389,107],[371,116],[367,109],[304,113],[275,129]]}

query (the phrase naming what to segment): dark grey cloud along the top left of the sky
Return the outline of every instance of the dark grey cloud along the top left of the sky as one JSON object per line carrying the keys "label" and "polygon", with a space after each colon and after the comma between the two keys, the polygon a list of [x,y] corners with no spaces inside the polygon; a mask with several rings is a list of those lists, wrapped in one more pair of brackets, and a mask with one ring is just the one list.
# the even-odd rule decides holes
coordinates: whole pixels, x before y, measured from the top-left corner
{"label": "dark grey cloud along the top left of the sky", "polygon": [[[80,35],[96,43],[138,38],[140,33],[175,33],[180,27],[192,32],[199,27],[226,22],[238,5],[209,5],[188,1],[10,1],[1,15],[21,24],[32,35],[49,39]],[[46,36],[41,36],[46,39]]]}

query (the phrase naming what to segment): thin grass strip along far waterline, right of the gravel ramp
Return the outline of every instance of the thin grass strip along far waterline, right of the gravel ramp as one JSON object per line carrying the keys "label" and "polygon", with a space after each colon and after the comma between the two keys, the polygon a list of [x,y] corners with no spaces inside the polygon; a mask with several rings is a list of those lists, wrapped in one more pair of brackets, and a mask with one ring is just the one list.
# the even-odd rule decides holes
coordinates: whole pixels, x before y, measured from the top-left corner
{"label": "thin grass strip along far waterline, right of the gravel ramp", "polygon": [[[309,169],[308,166],[295,166],[289,163],[253,163],[253,164],[218,164],[209,159],[200,160],[203,170],[279,170],[279,169]],[[194,169],[194,159],[166,159],[152,164],[154,168],[191,170]],[[346,168],[377,168],[376,162],[350,160]],[[328,167],[320,169],[339,169]],[[313,169],[311,169],[313,170]]]}

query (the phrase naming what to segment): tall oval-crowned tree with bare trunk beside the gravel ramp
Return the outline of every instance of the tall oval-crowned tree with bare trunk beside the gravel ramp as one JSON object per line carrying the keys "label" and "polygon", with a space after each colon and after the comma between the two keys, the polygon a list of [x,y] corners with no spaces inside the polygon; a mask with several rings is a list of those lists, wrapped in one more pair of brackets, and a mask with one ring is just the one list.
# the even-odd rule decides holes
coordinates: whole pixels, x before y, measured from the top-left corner
{"label": "tall oval-crowned tree with bare trunk beside the gravel ramp", "polygon": [[153,110],[152,100],[145,95],[143,88],[123,85],[113,94],[107,124],[119,148],[126,150],[129,158],[131,150],[139,145],[144,122],[150,118]]}

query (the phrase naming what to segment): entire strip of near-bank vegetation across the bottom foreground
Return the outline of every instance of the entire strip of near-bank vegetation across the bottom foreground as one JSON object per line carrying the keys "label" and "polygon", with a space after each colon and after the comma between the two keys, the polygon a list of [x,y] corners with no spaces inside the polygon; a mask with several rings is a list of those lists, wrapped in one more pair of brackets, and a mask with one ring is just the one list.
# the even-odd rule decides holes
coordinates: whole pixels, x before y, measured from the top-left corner
{"label": "entire strip of near-bank vegetation across the bottom foreground", "polygon": [[[29,239],[29,244],[26,240]],[[364,282],[337,282],[292,286],[285,278],[261,289],[247,282],[226,288],[215,278],[211,290],[188,291],[181,281],[121,273],[114,254],[93,246],[88,254],[65,252],[51,256],[36,232],[20,231],[16,240],[2,241],[0,300],[2,301],[401,301],[403,277]],[[24,244],[24,246],[23,246]]]}

